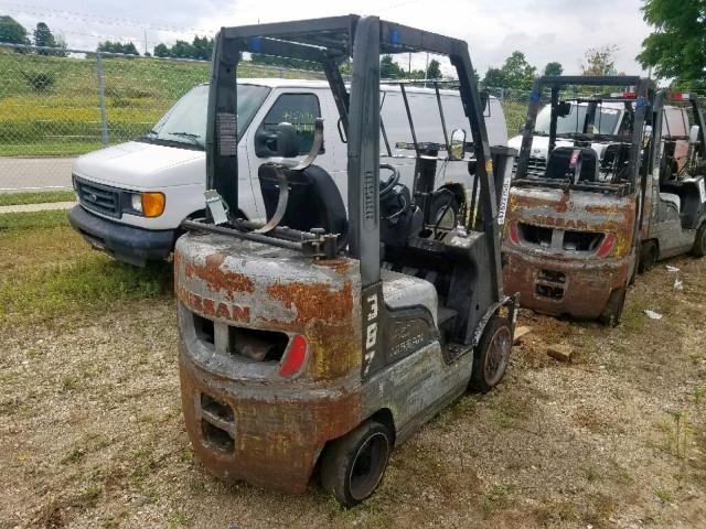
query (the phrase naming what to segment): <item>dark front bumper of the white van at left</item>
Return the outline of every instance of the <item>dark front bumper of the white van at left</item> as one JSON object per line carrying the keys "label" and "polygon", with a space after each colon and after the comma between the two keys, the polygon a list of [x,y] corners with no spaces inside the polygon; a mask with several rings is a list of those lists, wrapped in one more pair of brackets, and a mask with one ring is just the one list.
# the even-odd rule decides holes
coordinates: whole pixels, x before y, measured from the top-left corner
{"label": "dark front bumper of the white van at left", "polygon": [[68,212],[68,222],[94,248],[119,261],[143,267],[149,260],[167,259],[174,248],[175,229],[142,229],[98,217],[83,206]]}

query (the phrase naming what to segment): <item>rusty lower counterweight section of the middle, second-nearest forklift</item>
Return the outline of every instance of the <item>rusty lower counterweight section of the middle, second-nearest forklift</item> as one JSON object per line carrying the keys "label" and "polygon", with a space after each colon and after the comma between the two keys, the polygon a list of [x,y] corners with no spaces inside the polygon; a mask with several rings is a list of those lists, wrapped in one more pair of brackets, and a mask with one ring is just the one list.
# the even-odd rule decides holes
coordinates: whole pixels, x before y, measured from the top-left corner
{"label": "rusty lower counterweight section of the middle, second-nearest forklift", "polygon": [[595,320],[610,294],[627,287],[630,256],[619,259],[558,260],[504,248],[505,292],[520,292],[520,304],[554,316]]}

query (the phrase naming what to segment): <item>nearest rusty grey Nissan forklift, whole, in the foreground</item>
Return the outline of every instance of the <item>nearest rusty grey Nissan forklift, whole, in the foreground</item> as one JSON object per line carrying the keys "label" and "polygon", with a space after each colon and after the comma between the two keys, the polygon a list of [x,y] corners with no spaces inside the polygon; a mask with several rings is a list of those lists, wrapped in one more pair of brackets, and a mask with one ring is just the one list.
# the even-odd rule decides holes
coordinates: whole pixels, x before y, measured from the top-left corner
{"label": "nearest rusty grey Nissan forklift, whole, in the foreground", "polygon": [[[279,126],[282,158],[259,168],[268,220],[238,218],[233,109],[242,52],[323,66],[347,139],[347,214],[313,163],[325,148],[318,121],[301,161],[291,159],[297,131]],[[413,190],[391,166],[379,180],[379,55],[409,52],[447,55],[456,67],[473,155],[462,161],[466,133],[448,139],[439,104],[447,144],[414,138]],[[338,67],[349,57],[350,94]],[[502,378],[516,300],[503,293],[493,162],[472,72],[464,42],[375,17],[216,35],[208,216],[184,223],[174,267],[186,430],[217,476],[302,493],[319,464],[323,486],[354,505],[377,487],[394,445],[469,384],[488,391]],[[429,215],[439,153],[475,173],[460,224],[449,227]],[[509,177],[512,156],[495,158],[498,177]]]}

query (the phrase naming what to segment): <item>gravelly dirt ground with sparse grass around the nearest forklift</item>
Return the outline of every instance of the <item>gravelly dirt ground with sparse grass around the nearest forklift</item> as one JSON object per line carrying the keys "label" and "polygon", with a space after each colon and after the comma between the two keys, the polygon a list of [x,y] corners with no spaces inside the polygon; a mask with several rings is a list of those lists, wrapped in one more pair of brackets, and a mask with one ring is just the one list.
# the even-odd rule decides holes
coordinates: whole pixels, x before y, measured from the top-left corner
{"label": "gravelly dirt ground with sparse grass around the nearest forklift", "polygon": [[[108,263],[57,229],[42,239],[52,259],[71,247],[69,264]],[[13,262],[43,259],[0,244]],[[169,293],[6,317],[0,529],[706,528],[706,259],[670,264],[681,271],[638,278],[617,328],[523,313],[532,333],[501,386],[395,450],[378,492],[350,510],[315,479],[292,497],[202,468],[182,422]],[[25,278],[2,257],[0,270]],[[574,360],[549,358],[548,344],[573,346]]]}

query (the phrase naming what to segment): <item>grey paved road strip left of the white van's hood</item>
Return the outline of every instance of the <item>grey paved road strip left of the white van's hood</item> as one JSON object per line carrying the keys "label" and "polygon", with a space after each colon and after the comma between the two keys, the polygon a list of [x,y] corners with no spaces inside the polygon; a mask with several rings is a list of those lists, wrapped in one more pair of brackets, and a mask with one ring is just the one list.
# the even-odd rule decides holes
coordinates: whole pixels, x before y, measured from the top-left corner
{"label": "grey paved road strip left of the white van's hood", "polygon": [[71,188],[75,158],[0,158],[0,193]]}

